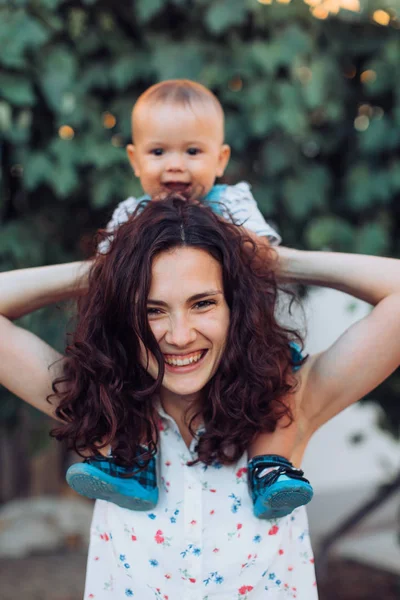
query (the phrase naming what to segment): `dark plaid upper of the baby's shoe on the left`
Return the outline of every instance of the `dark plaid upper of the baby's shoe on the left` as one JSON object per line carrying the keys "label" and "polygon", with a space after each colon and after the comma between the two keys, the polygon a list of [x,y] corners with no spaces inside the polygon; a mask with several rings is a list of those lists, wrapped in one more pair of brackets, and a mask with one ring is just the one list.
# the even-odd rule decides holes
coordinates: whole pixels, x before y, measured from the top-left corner
{"label": "dark plaid upper of the baby's shoe on the left", "polygon": [[[146,452],[145,448],[139,447],[137,456],[140,457]],[[121,467],[114,462],[112,457],[106,458],[88,458],[84,461],[90,464],[92,467],[99,469],[103,473],[110,475],[111,477],[117,477],[120,479],[135,479],[146,490],[152,490],[157,487],[157,470],[156,470],[156,458],[152,458],[148,463],[138,460],[139,466],[134,467]]]}

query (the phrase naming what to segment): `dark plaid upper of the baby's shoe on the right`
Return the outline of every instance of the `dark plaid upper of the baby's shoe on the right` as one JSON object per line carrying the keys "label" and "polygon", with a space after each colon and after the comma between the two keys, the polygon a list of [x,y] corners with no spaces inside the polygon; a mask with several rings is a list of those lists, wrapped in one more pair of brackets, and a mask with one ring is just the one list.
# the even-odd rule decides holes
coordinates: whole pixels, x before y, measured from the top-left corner
{"label": "dark plaid upper of the baby's shoe on the right", "polygon": [[[270,471],[262,477],[259,476],[264,469],[270,467],[277,468],[274,468],[273,471]],[[286,475],[286,477],[291,479],[304,481],[304,483],[310,483],[308,479],[304,477],[304,471],[296,469],[292,463],[283,456],[277,454],[265,454],[255,456],[249,461],[247,481],[253,504],[256,502],[258,496],[262,494],[267,487],[273,485],[281,475]]]}

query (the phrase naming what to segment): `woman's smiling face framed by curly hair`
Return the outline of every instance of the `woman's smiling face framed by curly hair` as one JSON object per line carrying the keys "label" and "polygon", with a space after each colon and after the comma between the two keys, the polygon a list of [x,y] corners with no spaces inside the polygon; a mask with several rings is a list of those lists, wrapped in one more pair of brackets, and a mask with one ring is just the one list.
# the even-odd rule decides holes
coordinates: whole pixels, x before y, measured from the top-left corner
{"label": "woman's smiling face framed by curly hair", "polygon": [[[147,314],[164,355],[162,394],[197,396],[217,371],[228,335],[220,263],[191,247],[156,256]],[[146,368],[156,379],[158,364],[151,354]]]}

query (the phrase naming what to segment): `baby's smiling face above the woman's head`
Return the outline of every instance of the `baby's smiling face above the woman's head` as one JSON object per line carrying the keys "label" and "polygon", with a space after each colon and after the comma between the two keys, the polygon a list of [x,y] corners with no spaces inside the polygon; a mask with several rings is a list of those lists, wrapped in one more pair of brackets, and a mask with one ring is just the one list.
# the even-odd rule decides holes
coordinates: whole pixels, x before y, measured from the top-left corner
{"label": "baby's smiling face above the woman's head", "polygon": [[141,106],[134,113],[134,136],[128,156],[151,197],[171,191],[206,195],[230,156],[222,118],[212,106]]}

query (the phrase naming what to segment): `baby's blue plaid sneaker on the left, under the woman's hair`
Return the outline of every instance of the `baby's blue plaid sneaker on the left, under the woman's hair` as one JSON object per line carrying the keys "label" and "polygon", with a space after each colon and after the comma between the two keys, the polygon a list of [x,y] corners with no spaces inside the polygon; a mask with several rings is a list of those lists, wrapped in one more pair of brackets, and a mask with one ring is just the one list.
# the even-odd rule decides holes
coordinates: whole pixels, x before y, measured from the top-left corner
{"label": "baby's blue plaid sneaker on the left, under the woman's hair", "polygon": [[151,510],[158,502],[156,459],[144,469],[120,467],[112,458],[90,458],[72,465],[68,485],[81,496],[107,500],[130,510]]}

